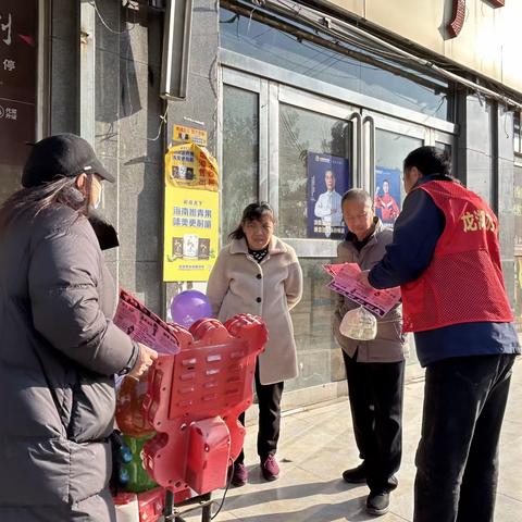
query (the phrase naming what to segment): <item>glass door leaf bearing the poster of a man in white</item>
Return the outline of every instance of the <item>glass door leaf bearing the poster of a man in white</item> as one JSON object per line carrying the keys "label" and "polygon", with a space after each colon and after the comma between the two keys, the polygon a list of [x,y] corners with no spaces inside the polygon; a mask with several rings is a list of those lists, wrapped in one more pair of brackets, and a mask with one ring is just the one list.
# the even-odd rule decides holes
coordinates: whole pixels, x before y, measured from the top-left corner
{"label": "glass door leaf bearing the poster of a man in white", "polygon": [[[271,121],[271,196],[298,254],[330,257],[345,235],[340,198],[360,177],[360,113],[285,86]],[[277,127],[277,128],[276,128]]]}

